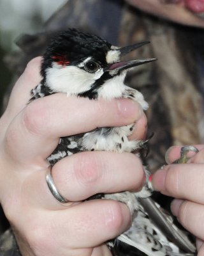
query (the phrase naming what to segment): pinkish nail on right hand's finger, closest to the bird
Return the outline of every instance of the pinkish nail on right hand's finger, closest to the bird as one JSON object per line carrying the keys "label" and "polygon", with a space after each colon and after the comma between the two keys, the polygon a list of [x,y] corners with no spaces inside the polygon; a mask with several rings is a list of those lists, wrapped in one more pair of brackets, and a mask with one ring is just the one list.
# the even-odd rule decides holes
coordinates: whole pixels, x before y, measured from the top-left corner
{"label": "pinkish nail on right hand's finger, closest to the bird", "polygon": [[[167,170],[162,169],[158,170],[154,175],[150,175],[150,182],[152,183],[152,187],[156,191],[164,191],[165,190],[165,179],[166,179]],[[152,176],[152,177],[151,177]]]}

